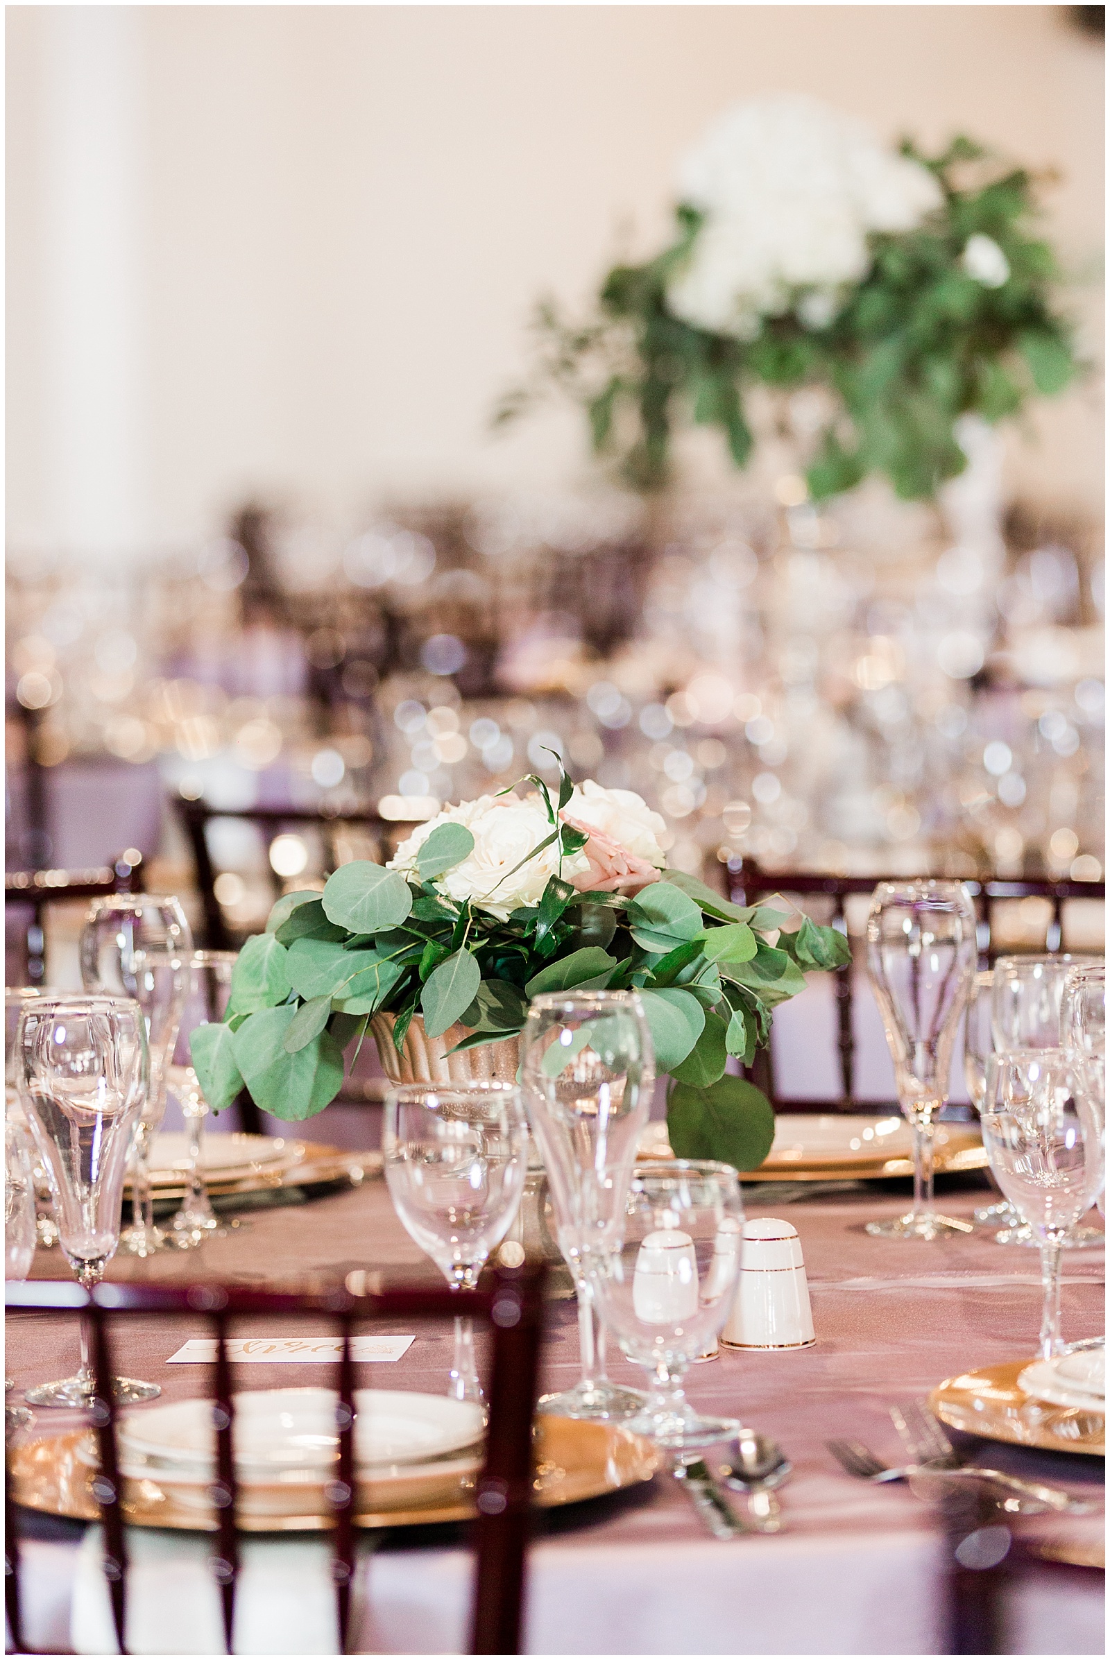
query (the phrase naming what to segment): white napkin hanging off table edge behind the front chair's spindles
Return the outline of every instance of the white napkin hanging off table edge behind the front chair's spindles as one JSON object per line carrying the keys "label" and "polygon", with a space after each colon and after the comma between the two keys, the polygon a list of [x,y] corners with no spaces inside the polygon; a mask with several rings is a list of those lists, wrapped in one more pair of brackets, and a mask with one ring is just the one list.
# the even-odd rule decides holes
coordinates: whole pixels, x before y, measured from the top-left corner
{"label": "white napkin hanging off table edge behind the front chair's spindles", "polygon": [[[362,1536],[368,1554],[373,1539]],[[209,1567],[214,1534],[128,1529],[126,1643],[133,1655],[222,1655],[219,1589]],[[241,1655],[335,1655],[338,1622],[332,1545],[325,1537],[239,1540],[234,1650]],[[103,1569],[103,1536],[90,1527],[76,1560],[70,1628],[80,1655],[119,1653]]]}

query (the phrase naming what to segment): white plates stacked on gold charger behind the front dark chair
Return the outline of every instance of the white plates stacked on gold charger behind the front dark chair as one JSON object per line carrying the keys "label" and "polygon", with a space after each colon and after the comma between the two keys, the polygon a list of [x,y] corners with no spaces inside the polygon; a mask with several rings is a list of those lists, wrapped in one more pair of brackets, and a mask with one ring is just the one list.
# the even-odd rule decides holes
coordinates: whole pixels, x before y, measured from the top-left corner
{"label": "white plates stacked on gold charger behind the front dark chair", "polygon": [[[246,1471],[312,1469],[338,1446],[333,1389],[244,1389],[236,1394],[232,1444]],[[470,1448],[483,1431],[481,1408],[446,1394],[355,1391],[355,1461],[360,1469],[413,1464]],[[216,1457],[211,1401],[169,1401],[128,1413],[124,1456],[158,1457],[211,1471]]]}

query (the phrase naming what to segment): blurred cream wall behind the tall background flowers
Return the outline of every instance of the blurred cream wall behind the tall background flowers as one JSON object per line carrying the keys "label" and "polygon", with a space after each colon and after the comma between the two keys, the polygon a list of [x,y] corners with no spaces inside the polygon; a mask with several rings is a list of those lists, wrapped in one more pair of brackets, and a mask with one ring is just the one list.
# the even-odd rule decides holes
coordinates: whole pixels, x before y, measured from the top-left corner
{"label": "blurred cream wall behind the tall background flowers", "polygon": [[[1103,51],[1037,5],[13,7],[8,523],[126,551],[247,490],[569,481],[579,423],[491,438],[533,299],[665,229],[730,100],[803,90],[934,144],[1059,168],[1050,229],[1100,299]],[[1100,385],[1010,445],[1097,510]]]}

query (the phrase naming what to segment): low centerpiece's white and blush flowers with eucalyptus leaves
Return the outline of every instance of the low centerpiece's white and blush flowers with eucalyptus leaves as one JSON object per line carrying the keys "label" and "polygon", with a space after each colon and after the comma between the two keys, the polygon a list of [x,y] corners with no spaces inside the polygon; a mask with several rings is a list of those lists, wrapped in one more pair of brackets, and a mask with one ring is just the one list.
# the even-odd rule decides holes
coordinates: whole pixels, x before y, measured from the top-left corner
{"label": "low centerpiece's white and blush flowers with eucalyptus leaves", "polygon": [[385,867],[357,860],[277,901],[239,954],[224,1023],[192,1034],[216,1111],[246,1086],[279,1119],[320,1112],[372,1021],[398,1054],[416,1021],[428,1039],[455,1028],[463,1052],[514,1039],[539,993],[635,988],[670,1074],[675,1152],[763,1162],[772,1107],[728,1057],[750,1064],[775,1004],[850,961],[848,941],[667,870],[664,820],[630,790],[562,770],[557,792],[526,782],[441,812]]}

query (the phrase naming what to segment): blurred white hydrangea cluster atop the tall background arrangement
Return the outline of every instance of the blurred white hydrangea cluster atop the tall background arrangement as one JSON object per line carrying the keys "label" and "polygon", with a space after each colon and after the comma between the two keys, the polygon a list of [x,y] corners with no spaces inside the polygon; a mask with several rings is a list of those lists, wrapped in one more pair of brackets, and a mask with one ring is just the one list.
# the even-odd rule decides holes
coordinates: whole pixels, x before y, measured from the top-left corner
{"label": "blurred white hydrangea cluster atop the tall background arrangement", "polygon": [[913,231],[942,203],[926,168],[801,95],[728,110],[687,158],[679,188],[705,222],[667,290],[670,310],[737,339],[795,304],[806,327],[823,327],[843,287],[868,272],[868,234]]}

